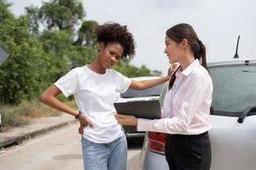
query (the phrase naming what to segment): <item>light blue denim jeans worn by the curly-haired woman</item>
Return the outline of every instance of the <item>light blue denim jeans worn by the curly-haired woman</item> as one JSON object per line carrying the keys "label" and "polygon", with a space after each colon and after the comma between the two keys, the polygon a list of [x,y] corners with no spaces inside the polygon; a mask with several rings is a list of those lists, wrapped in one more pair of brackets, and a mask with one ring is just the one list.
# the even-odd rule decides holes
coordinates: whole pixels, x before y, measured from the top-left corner
{"label": "light blue denim jeans worn by the curly-haired woman", "polygon": [[126,170],[125,135],[108,144],[96,144],[82,137],[84,170]]}

